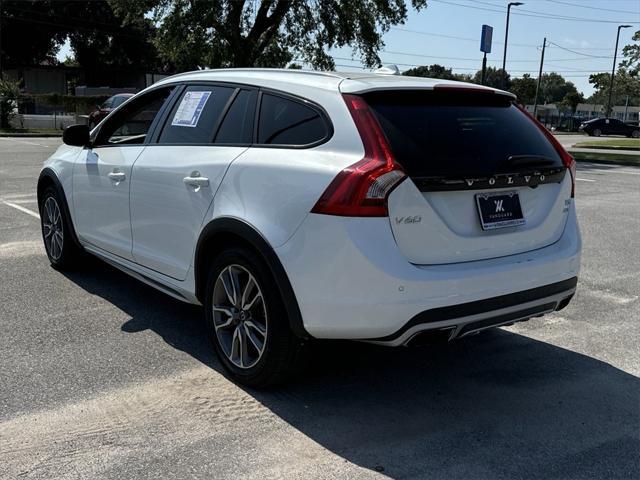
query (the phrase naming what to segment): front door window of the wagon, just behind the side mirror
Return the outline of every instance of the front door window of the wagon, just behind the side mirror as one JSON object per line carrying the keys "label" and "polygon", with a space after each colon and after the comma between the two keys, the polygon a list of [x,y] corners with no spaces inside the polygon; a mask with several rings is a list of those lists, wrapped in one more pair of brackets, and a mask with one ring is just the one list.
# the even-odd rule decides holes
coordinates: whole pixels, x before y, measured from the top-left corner
{"label": "front door window of the wagon, just behind the side mirror", "polygon": [[173,87],[159,88],[136,98],[107,121],[98,132],[94,145],[144,143],[153,120],[172,89]]}

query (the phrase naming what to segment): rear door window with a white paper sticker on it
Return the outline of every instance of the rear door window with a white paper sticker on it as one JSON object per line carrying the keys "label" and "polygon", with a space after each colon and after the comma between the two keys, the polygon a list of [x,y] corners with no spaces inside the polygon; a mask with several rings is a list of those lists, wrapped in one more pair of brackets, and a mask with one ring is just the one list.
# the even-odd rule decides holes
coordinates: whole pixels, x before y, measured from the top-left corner
{"label": "rear door window with a white paper sticker on it", "polygon": [[167,116],[160,143],[211,143],[218,119],[235,88],[192,85]]}

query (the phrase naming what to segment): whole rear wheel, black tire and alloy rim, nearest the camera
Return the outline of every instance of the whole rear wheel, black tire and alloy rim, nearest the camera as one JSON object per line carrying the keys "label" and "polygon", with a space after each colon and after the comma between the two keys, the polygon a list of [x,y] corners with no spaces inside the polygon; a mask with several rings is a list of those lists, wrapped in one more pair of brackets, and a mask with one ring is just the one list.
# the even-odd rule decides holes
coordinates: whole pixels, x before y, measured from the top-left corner
{"label": "whole rear wheel, black tire and alloy rim, nearest the camera", "polygon": [[289,327],[269,267],[253,251],[230,248],[214,260],[205,319],[218,358],[238,383],[268,387],[289,380],[302,368],[303,342]]}

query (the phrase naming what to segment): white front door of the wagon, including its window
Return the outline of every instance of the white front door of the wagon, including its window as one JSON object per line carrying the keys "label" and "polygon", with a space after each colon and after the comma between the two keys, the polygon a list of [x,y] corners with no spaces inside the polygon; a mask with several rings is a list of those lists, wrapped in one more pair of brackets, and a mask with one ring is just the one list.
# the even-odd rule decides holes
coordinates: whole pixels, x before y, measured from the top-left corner
{"label": "white front door of the wagon, including its window", "polygon": [[132,259],[129,187],[132,167],[171,89],[151,91],[104,122],[73,169],[75,228],[85,242]]}

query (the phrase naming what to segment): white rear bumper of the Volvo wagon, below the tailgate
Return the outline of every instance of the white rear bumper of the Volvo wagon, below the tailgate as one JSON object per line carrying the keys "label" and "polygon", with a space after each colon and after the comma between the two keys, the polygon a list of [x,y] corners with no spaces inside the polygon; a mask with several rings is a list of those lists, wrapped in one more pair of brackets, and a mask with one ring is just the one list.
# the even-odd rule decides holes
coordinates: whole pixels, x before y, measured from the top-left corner
{"label": "white rear bumper of the Volvo wagon, below the tailgate", "polygon": [[[555,310],[575,290],[580,250],[572,204],[557,242],[489,260],[414,265],[400,253],[388,218],[315,214],[276,253],[310,335],[399,345],[425,329],[455,327],[459,336]],[[574,286],[536,290],[565,281]],[[537,293],[523,293],[530,290]],[[442,312],[446,318],[434,317]]]}

